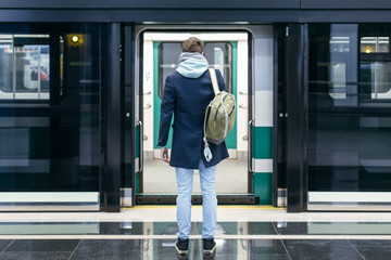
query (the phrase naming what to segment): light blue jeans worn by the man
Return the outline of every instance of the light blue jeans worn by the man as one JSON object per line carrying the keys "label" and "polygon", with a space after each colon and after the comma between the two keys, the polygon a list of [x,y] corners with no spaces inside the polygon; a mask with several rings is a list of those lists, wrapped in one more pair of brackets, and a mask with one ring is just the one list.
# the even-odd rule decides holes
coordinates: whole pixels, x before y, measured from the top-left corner
{"label": "light blue jeans worn by the man", "polygon": [[[202,238],[214,238],[217,219],[216,166],[205,168],[200,159],[200,182],[202,191]],[[178,186],[177,221],[179,238],[189,238],[191,229],[191,191],[193,170],[175,168]]]}

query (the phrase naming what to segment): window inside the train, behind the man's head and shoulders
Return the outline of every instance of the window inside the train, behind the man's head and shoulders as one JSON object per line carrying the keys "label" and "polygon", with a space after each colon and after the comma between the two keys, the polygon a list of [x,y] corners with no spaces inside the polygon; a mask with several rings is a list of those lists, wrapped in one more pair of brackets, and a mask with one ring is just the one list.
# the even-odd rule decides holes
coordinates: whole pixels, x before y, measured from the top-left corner
{"label": "window inside the train, behind the man's head and shoulders", "polygon": [[[229,93],[232,93],[232,47],[228,42],[204,42],[210,67],[222,72]],[[161,42],[159,46],[159,98],[163,99],[165,78],[178,67],[181,42]]]}

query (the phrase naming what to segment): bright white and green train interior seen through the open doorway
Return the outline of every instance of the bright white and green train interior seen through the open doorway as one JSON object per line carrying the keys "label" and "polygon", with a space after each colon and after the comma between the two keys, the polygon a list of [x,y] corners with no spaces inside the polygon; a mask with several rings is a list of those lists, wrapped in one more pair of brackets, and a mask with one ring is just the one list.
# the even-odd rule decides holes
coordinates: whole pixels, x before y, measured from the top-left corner
{"label": "bright white and green train interior seen through the open doorway", "polygon": [[[245,32],[146,32],[143,34],[142,118],[143,118],[143,193],[176,193],[175,168],[160,160],[156,146],[160,104],[165,78],[175,72],[181,42],[190,36],[205,46],[204,55],[222,72],[228,92],[236,96],[237,117],[234,130],[226,139],[229,159],[218,165],[217,193],[248,193],[248,34]],[[240,64],[240,66],[238,66]],[[172,132],[171,134],[172,135]],[[171,148],[169,138],[167,147]],[[194,173],[193,193],[200,194]]]}

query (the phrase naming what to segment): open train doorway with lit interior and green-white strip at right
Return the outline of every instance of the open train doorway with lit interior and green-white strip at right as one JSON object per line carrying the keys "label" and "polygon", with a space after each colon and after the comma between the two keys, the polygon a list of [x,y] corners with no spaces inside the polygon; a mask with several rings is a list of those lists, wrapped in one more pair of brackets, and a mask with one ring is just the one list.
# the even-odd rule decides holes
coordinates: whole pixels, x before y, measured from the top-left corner
{"label": "open train doorway with lit interior and green-white strip at right", "polygon": [[[135,40],[128,39],[135,44],[133,57],[126,54],[125,58],[126,70],[131,67],[126,65],[126,60],[134,58],[135,64],[133,83],[125,80],[126,100],[130,99],[125,103],[131,107],[131,136],[125,132],[125,140],[133,144],[133,165],[129,165],[133,171],[133,205],[175,204],[175,168],[160,160],[160,147],[156,146],[160,105],[165,78],[175,72],[181,52],[180,43],[190,36],[204,42],[210,66],[222,72],[228,91],[236,95],[237,101],[236,127],[227,140],[230,159],[217,167],[218,203],[270,205],[273,26],[232,28],[211,25],[191,28],[136,26]],[[124,74],[125,79],[129,77],[127,72]],[[127,91],[128,86],[131,93]],[[168,148],[169,143],[168,139]],[[201,204],[198,170],[194,171],[193,182],[192,203]]]}

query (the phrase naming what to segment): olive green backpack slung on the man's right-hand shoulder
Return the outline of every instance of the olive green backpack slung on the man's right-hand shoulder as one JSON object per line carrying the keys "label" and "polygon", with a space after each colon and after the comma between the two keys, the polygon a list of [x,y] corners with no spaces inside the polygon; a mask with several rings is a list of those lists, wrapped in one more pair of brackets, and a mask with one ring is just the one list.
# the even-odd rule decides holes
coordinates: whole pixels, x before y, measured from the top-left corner
{"label": "olive green backpack slung on the man's right-hand shoulder", "polygon": [[209,142],[220,144],[227,138],[235,123],[235,96],[226,91],[219,91],[216,72],[210,68],[214,91],[214,99],[206,107],[204,118],[204,156],[206,161],[212,159]]}

